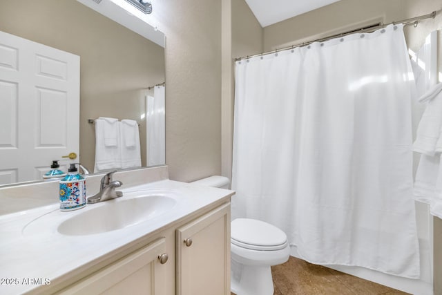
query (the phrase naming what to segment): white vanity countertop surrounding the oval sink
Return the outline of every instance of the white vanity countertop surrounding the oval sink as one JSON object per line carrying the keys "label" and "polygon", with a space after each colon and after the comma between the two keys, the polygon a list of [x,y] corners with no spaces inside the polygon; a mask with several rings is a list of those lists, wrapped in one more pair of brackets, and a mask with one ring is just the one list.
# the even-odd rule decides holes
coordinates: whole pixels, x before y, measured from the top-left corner
{"label": "white vanity countertop surrounding the oval sink", "polygon": [[[135,187],[122,187],[122,198],[75,211],[59,211],[59,204],[0,216],[0,294],[21,294],[41,284],[124,247],[129,242],[162,229],[207,207],[229,200],[233,191],[202,187],[195,184],[161,180]],[[140,192],[166,194],[176,200],[175,207],[135,225],[87,236],[59,234],[58,225],[84,211],[135,198]],[[90,227],[94,225],[91,224]]]}

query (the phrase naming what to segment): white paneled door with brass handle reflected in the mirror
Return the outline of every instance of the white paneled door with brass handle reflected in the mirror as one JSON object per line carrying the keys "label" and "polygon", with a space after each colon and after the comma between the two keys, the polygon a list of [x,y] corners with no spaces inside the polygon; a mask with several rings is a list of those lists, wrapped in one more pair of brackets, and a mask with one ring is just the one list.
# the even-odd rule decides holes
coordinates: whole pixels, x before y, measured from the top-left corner
{"label": "white paneled door with brass handle reflected in the mirror", "polygon": [[78,155],[79,56],[0,32],[0,126],[0,184]]}

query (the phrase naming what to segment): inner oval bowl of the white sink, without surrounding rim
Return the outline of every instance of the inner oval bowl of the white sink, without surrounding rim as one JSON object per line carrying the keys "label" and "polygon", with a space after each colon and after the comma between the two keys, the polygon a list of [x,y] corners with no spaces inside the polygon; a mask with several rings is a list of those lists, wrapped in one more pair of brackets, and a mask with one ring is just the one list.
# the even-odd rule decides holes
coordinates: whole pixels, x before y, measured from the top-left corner
{"label": "inner oval bowl of the white sink, without surrounding rim", "polygon": [[83,236],[130,227],[169,211],[175,206],[176,200],[153,195],[109,200],[101,204],[100,207],[90,208],[64,220],[57,231],[68,236]]}

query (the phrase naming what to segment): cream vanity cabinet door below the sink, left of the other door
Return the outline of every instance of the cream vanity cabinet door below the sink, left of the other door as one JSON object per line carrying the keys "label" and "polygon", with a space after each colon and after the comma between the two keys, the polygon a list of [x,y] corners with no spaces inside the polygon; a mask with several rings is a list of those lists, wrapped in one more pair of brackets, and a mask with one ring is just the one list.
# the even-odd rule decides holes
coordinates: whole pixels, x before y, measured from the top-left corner
{"label": "cream vanity cabinet door below the sink, left of the other door", "polygon": [[165,238],[104,267],[60,294],[164,294]]}

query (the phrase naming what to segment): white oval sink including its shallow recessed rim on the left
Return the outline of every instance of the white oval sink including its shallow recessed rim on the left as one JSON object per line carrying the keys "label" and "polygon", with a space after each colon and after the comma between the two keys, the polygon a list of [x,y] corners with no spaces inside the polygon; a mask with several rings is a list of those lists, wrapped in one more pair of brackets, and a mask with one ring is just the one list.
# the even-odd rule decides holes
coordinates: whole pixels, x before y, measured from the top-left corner
{"label": "white oval sink including its shallow recessed rim on the left", "polygon": [[[53,209],[28,222],[21,230],[23,236],[62,234],[85,236],[124,229],[164,213],[171,213],[182,202],[177,193],[166,190],[125,192],[121,198],[87,204],[75,211]],[[57,206],[58,207],[58,206]]]}

